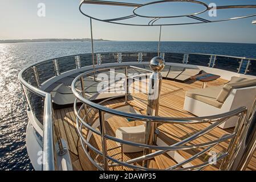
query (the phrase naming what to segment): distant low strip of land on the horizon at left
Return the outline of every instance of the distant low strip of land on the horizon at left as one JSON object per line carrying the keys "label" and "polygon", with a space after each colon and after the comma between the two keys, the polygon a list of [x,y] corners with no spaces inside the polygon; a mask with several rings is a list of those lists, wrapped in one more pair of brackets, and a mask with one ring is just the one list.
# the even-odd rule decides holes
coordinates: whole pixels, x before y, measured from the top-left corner
{"label": "distant low strip of land on the horizon at left", "polygon": [[[0,40],[0,43],[22,43],[22,42],[90,42],[91,39],[18,39],[18,40]],[[94,41],[111,41],[104,39],[94,39]]]}

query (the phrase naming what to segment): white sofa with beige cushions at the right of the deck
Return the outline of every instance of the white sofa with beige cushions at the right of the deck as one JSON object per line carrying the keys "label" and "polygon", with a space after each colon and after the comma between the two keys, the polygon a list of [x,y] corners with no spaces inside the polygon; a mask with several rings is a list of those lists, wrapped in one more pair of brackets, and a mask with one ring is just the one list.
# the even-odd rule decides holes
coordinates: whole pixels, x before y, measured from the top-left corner
{"label": "white sofa with beige cushions at the right of the deck", "polygon": [[[234,76],[225,85],[188,90],[184,110],[198,117],[226,113],[241,106],[246,106],[250,111],[255,97],[256,79]],[[220,127],[234,127],[236,122],[237,118],[233,117]]]}

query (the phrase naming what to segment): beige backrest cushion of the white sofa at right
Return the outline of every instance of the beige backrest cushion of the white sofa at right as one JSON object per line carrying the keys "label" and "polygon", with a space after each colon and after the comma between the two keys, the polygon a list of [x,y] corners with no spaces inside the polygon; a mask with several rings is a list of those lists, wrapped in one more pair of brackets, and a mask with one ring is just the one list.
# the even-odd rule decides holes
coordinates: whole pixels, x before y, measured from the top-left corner
{"label": "beige backrest cushion of the white sofa at right", "polygon": [[223,88],[222,88],[220,94],[218,94],[216,100],[218,102],[224,103],[232,89],[246,88],[246,87],[250,87],[250,86],[256,86],[256,79],[231,77],[231,80],[223,86]]}

